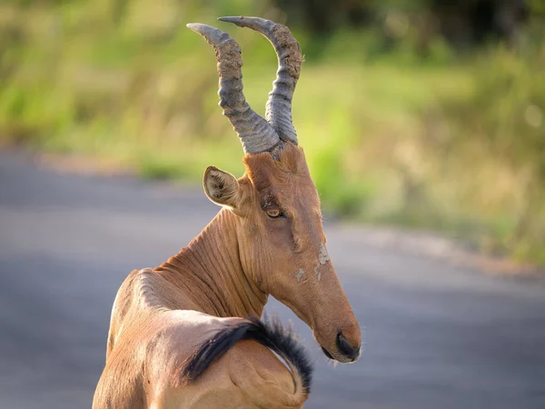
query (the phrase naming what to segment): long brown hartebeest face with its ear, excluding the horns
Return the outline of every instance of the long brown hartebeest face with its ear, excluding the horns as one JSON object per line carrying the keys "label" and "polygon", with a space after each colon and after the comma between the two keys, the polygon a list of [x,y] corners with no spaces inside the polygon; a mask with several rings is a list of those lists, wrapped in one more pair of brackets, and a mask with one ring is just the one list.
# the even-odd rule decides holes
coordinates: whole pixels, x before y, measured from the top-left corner
{"label": "long brown hartebeest face with its ear, excluding the horns", "polygon": [[209,168],[205,190],[237,215],[243,270],[313,331],[324,354],[343,363],[360,355],[360,327],[327,252],[322,213],[302,149],[244,157],[236,180]]}

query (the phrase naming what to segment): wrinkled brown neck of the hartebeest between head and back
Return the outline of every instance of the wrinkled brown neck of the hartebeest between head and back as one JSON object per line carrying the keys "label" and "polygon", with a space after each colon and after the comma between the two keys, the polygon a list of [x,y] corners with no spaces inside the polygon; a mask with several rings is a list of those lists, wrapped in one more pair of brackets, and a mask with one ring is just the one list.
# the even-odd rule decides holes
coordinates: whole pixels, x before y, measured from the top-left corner
{"label": "wrinkled brown neck of the hartebeest between head and back", "polygon": [[236,223],[236,216],[222,209],[187,247],[155,271],[191,300],[193,309],[216,316],[259,317],[267,294],[243,271]]}

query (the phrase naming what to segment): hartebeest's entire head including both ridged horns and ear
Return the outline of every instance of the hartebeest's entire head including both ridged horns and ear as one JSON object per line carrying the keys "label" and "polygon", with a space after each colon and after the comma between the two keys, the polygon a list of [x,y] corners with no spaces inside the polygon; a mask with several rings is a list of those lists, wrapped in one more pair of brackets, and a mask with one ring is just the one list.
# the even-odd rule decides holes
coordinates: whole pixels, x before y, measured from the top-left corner
{"label": "hartebeest's entire head including both ridged horns and ear", "polygon": [[286,26],[269,20],[220,20],[267,37],[279,67],[264,119],[245,101],[243,59],[236,41],[209,25],[188,25],[215,49],[220,105],[245,154],[243,177],[236,179],[210,166],[204,173],[204,191],[234,215],[243,274],[308,324],[324,354],[342,363],[354,362],[360,356],[360,326],[327,252],[320,199],[292,125],[300,45]]}

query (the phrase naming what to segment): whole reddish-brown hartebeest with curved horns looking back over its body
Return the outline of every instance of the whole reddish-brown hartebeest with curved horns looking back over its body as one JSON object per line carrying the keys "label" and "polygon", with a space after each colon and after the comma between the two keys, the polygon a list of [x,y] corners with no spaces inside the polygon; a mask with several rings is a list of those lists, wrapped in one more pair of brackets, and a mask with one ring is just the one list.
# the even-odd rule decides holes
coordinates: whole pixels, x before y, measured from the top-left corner
{"label": "whole reddish-brown hartebeest with curved horns looking back over its body", "polygon": [[180,253],[122,284],[94,409],[302,407],[309,368],[299,347],[278,325],[243,318],[261,316],[269,294],[311,326],[328,357],[360,355],[360,326],[327,253],[292,125],[300,46],[284,25],[220,20],[253,28],[276,50],[267,119],[245,102],[239,45],[217,28],[188,25],[215,49],[220,105],[242,141],[246,172],[236,179],[208,167],[204,192],[220,212]]}

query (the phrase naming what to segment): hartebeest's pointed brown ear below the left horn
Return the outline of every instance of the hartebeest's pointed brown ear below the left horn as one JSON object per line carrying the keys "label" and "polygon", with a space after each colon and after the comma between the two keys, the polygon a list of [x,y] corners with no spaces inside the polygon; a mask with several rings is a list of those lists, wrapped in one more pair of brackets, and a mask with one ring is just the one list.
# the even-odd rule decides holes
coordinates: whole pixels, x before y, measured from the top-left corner
{"label": "hartebeest's pointed brown ear below the left horn", "polygon": [[216,205],[235,209],[240,201],[240,187],[236,178],[215,166],[208,166],[204,172],[204,193]]}

